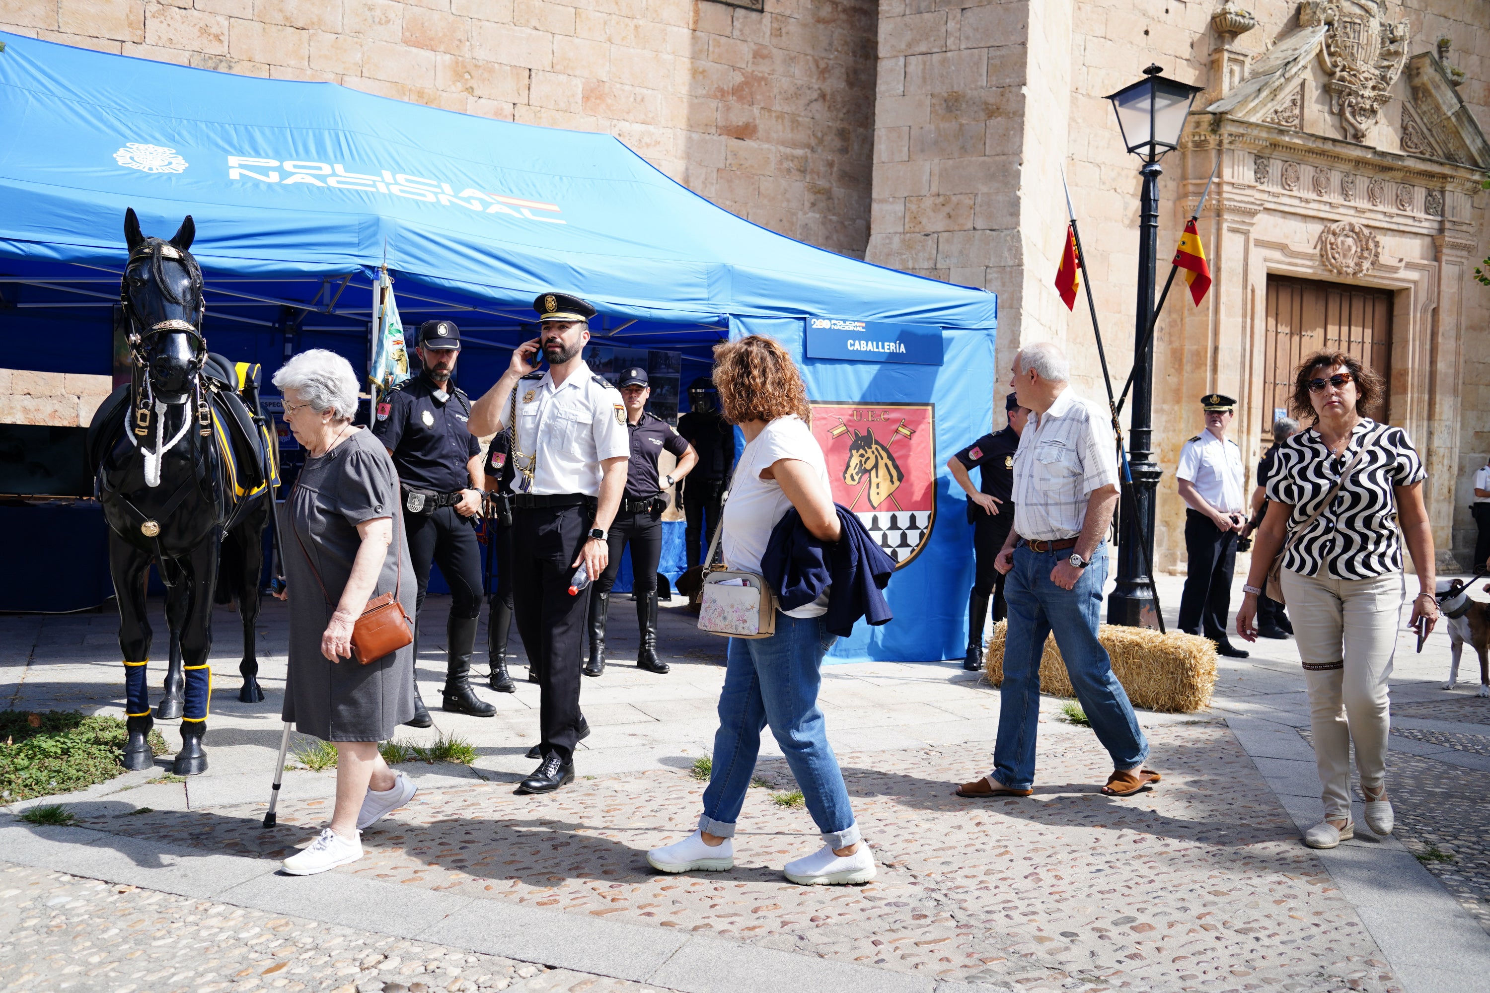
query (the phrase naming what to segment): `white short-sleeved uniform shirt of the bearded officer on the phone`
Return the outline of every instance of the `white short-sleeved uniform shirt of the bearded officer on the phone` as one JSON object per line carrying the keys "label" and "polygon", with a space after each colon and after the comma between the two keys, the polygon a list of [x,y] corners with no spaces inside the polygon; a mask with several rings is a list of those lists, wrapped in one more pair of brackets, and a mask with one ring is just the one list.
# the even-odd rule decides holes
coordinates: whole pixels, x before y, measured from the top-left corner
{"label": "white short-sleeved uniform shirt of the bearded officer on the phone", "polygon": [[[539,496],[599,496],[603,475],[600,460],[627,459],[632,453],[621,392],[590,372],[584,362],[578,362],[560,386],[554,386],[553,372],[548,371],[538,380],[519,380],[514,393],[514,488]],[[538,464],[532,485],[524,490],[523,470],[532,466],[533,457]]]}

